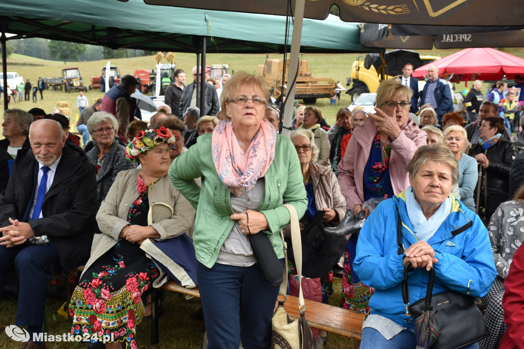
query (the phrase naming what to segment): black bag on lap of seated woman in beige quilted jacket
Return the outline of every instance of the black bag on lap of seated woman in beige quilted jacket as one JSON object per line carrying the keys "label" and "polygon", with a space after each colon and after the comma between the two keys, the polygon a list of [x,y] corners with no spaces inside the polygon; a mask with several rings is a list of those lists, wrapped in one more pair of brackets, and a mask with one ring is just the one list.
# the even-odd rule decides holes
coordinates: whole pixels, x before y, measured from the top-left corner
{"label": "black bag on lap of seated woman in beige quilted jacket", "polygon": [[[346,239],[333,236],[324,231],[322,217],[325,211],[316,211],[300,232],[302,237],[302,275],[309,278],[320,277],[324,280],[333,266],[344,253]],[[290,241],[286,241],[290,245]],[[292,243],[291,243],[292,245]],[[288,258],[294,262],[292,248],[288,249]]]}

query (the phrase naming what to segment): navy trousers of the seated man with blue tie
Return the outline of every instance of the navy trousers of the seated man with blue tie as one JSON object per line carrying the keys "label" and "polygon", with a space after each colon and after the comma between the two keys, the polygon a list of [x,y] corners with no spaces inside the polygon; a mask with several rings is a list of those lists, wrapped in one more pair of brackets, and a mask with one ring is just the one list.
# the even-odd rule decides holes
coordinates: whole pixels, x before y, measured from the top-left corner
{"label": "navy trousers of the seated man with blue tie", "polygon": [[41,326],[49,275],[62,271],[56,242],[48,245],[0,246],[0,301],[7,272],[18,276],[17,326]]}

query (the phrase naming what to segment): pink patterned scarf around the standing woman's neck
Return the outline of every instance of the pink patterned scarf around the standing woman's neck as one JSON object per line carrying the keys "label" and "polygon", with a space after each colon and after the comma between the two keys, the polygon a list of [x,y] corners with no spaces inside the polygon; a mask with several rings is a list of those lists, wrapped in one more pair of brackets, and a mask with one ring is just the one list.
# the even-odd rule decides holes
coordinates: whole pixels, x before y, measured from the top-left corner
{"label": "pink patterned scarf around the standing woman's neck", "polygon": [[277,132],[266,119],[246,153],[238,142],[233,125],[222,120],[213,131],[211,154],[220,180],[231,194],[239,196],[251,189],[263,177],[275,158]]}

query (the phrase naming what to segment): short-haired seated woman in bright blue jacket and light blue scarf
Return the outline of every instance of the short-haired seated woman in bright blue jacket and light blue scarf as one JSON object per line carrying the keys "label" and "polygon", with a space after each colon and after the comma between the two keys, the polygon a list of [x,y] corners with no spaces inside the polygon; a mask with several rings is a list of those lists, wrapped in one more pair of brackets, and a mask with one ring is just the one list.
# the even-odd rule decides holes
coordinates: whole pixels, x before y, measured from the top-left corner
{"label": "short-haired seated woman in bright blue jacket and light blue scarf", "polygon": [[[450,195],[459,179],[453,153],[443,144],[424,145],[408,164],[410,187],[381,202],[366,220],[353,267],[375,294],[362,328],[361,349],[415,348],[413,319],[401,296],[403,269],[411,262],[409,303],[425,297],[429,271],[433,293],[454,290],[472,297],[487,294],[496,276],[482,221]],[[397,221],[402,222],[398,254]],[[467,348],[477,348],[477,343]]]}

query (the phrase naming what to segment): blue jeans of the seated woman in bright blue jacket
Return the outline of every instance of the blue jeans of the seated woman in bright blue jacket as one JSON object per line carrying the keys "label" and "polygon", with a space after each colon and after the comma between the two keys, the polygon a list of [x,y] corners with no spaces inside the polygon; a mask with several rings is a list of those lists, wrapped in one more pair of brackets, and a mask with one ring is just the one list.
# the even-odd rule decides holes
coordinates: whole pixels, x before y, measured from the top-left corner
{"label": "blue jeans of the seated woman in bright blue jacket", "polygon": [[[389,341],[380,332],[366,327],[362,329],[362,342],[360,349],[415,349],[417,343],[412,329],[402,331]],[[478,344],[474,343],[463,349],[478,349]]]}

